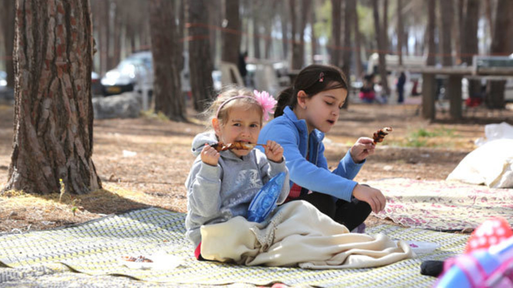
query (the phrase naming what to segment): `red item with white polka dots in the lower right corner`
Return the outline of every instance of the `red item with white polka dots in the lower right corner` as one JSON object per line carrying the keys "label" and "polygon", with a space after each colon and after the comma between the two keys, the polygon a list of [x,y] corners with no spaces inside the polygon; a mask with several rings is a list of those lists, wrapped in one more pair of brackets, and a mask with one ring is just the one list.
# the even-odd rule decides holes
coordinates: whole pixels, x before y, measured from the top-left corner
{"label": "red item with white polka dots in the lower right corner", "polygon": [[513,236],[513,230],[508,221],[502,217],[494,217],[484,221],[472,232],[465,247],[465,253],[478,249],[488,249]]}

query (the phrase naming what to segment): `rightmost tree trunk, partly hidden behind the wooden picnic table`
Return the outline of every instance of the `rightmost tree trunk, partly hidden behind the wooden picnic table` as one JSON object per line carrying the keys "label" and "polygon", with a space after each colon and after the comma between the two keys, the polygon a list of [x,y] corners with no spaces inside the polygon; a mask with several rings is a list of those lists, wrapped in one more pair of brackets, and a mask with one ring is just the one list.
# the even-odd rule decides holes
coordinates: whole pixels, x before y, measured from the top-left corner
{"label": "rightmost tree trunk, partly hidden behind the wooden picnic table", "polygon": [[[511,15],[513,12],[513,3],[510,0],[499,0],[497,3],[497,13],[495,16],[495,27],[491,42],[491,53],[495,55],[507,55],[513,47],[510,46],[510,38],[513,36],[513,25]],[[503,109],[506,105],[504,101],[504,85],[506,81],[488,81],[487,105],[493,109]]]}

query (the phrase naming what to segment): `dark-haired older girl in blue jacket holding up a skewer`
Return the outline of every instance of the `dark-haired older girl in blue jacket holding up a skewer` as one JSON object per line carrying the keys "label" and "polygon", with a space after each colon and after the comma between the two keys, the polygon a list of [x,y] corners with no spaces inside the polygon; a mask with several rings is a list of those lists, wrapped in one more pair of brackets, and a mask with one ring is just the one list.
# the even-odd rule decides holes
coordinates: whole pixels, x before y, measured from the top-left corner
{"label": "dark-haired older girl in blue jacket holding up a skewer", "polygon": [[386,200],[378,189],[352,180],[374,153],[371,138],[359,138],[337,169],[328,170],[322,139],[337,122],[346,97],[346,80],[338,68],[304,68],[293,86],[280,93],[274,119],[261,130],[258,142],[273,140],[283,147],[291,181],[288,200],[306,200],[353,230],[371,211],[383,210]]}

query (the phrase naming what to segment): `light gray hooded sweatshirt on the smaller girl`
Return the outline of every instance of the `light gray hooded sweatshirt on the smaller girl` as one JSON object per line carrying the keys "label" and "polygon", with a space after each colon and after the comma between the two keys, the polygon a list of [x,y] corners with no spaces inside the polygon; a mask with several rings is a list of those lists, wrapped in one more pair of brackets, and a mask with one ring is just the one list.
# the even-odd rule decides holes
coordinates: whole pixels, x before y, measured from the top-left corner
{"label": "light gray hooded sweatshirt on the smaller girl", "polygon": [[201,225],[225,222],[235,216],[246,217],[253,197],[265,183],[280,172],[286,172],[287,176],[278,203],[283,203],[289,193],[285,159],[280,163],[270,161],[258,149],[253,149],[242,157],[226,150],[220,152],[221,157],[217,166],[205,164],[201,160],[201,150],[205,143],[217,142],[214,132],[198,134],[192,141],[192,153],[197,157],[185,181],[185,235],[194,247],[201,242]]}

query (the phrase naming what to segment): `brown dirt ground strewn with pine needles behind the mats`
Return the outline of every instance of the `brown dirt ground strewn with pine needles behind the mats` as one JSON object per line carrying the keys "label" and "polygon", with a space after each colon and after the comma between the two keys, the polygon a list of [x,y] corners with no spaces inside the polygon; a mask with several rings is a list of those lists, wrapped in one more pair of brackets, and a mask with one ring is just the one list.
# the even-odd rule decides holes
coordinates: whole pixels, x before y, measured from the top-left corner
{"label": "brown dirt ground strewn with pine needles behind the mats", "polygon": [[[184,182],[194,159],[190,145],[194,135],[205,130],[201,121],[189,114],[190,123],[151,115],[95,120],[93,161],[104,189],[88,195],[64,194],[61,199],[58,193],[3,192],[0,233],[49,229],[148,206],[186,212]],[[444,113],[439,113],[435,122],[418,114],[418,105],[351,105],[327,134],[330,166],[336,166],[358,137],[371,137],[374,131],[391,126],[394,131],[378,145],[355,180],[445,179],[475,149],[474,141],[484,136],[484,124],[504,119],[513,122],[513,112],[507,110],[476,109],[466,112],[466,118],[457,124],[451,124]],[[12,123],[13,108],[0,105],[0,189],[8,177]],[[369,217],[366,223],[383,221]]]}

